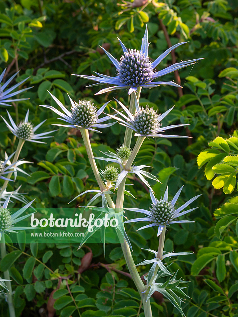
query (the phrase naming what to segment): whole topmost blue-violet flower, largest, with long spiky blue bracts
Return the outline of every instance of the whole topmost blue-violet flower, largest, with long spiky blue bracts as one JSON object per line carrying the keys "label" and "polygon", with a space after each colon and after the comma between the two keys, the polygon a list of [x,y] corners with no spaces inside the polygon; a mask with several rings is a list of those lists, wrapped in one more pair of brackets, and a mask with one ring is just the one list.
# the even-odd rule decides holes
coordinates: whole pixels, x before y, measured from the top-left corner
{"label": "whole topmost blue-violet flower, largest, with long spiky blue bracts", "polygon": [[[118,39],[119,40],[119,39]],[[156,78],[161,77],[163,75],[169,74],[174,72],[175,70],[193,65],[195,61],[199,61],[202,58],[197,58],[190,61],[182,61],[180,63],[175,63],[165,69],[162,69],[158,72],[155,71],[155,67],[159,65],[159,63],[175,48],[179,47],[182,44],[188,42],[182,42],[175,44],[171,48],[167,49],[164,53],[162,53],[154,62],[149,60],[148,56],[148,30],[147,26],[145,29],[145,34],[142,40],[141,49],[126,49],[125,45],[120,41],[122,46],[122,50],[124,55],[121,56],[120,60],[118,61],[115,57],[113,57],[109,52],[105,49],[103,51],[107,54],[109,59],[112,61],[114,66],[117,70],[117,76],[110,77],[107,75],[96,73],[97,76],[86,76],[86,75],[77,75],[75,76],[97,81],[98,84],[93,84],[91,86],[101,85],[103,83],[113,85],[112,87],[105,88],[100,90],[97,94],[102,94],[111,90],[116,89],[129,89],[129,94],[133,91],[136,91],[138,87],[144,88],[152,88],[157,87],[159,85],[170,85],[175,87],[181,87],[180,85],[176,84],[173,81],[154,81]],[[89,87],[89,86],[88,86]]]}

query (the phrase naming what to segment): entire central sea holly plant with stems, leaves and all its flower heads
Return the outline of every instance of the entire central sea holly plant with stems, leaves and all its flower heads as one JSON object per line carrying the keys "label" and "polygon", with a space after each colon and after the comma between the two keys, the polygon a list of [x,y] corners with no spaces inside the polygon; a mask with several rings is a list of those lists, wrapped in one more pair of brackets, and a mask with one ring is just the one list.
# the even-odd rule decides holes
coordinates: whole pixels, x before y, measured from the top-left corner
{"label": "entire central sea holly plant with stems, leaves and all its flower heads", "polygon": [[[120,41],[120,40],[119,40]],[[69,111],[66,106],[64,106],[59,100],[56,99],[55,96],[52,98],[56,101],[59,107],[63,110],[64,113],[61,113],[56,108],[51,106],[43,106],[53,110],[55,113],[61,116],[61,120],[64,120],[67,124],[62,125],[66,127],[76,127],[79,128],[83,137],[84,144],[86,146],[87,154],[89,157],[89,162],[91,164],[92,170],[94,172],[95,178],[99,185],[99,190],[88,190],[73,200],[76,200],[78,197],[81,197],[84,194],[95,192],[95,196],[89,201],[87,206],[91,210],[100,211],[100,215],[97,219],[103,221],[105,218],[105,214],[108,215],[109,218],[115,218],[118,221],[117,225],[117,235],[119,237],[122,251],[131,273],[133,280],[135,282],[136,288],[138,289],[140,296],[143,302],[144,314],[145,317],[152,317],[151,307],[149,298],[155,292],[159,291],[165,297],[169,299],[173,303],[173,305],[179,310],[181,314],[183,314],[181,303],[183,298],[187,295],[183,292],[183,288],[181,286],[184,281],[176,280],[176,273],[172,272],[170,266],[164,263],[164,259],[171,256],[178,255],[188,255],[190,252],[165,252],[164,241],[166,230],[169,225],[173,223],[190,223],[194,222],[188,219],[177,220],[177,217],[187,215],[189,212],[195,210],[196,208],[191,208],[185,210],[190,204],[192,204],[200,195],[197,195],[188,200],[188,202],[182,204],[181,206],[177,206],[177,199],[182,191],[182,188],[178,190],[172,200],[169,200],[169,191],[168,188],[165,191],[163,198],[155,198],[153,193],[153,188],[149,184],[149,182],[145,179],[145,177],[149,179],[153,179],[155,181],[159,181],[159,179],[146,171],[145,169],[149,166],[147,165],[139,165],[137,166],[134,163],[136,159],[136,155],[140,150],[140,147],[143,141],[146,138],[187,138],[188,136],[184,135],[174,135],[174,134],[165,134],[165,131],[169,129],[174,129],[177,127],[184,127],[187,124],[175,124],[171,126],[163,126],[162,120],[169,115],[173,108],[168,109],[165,113],[159,114],[155,109],[151,107],[141,107],[139,105],[139,96],[141,87],[156,87],[160,84],[166,84],[171,86],[178,86],[174,82],[155,82],[154,79],[163,75],[168,74],[177,69],[183,68],[185,66],[189,66],[195,63],[195,60],[181,62],[178,64],[174,64],[165,68],[164,70],[155,71],[155,67],[162,61],[162,59],[171,52],[172,49],[180,46],[183,43],[178,43],[172,48],[165,51],[160,57],[158,57],[153,63],[150,62],[148,58],[148,33],[147,28],[145,31],[145,35],[142,41],[141,50],[127,50],[124,44],[120,41],[123,49],[124,55],[120,58],[120,61],[117,61],[112,55],[108,52],[106,54],[109,56],[110,60],[114,63],[117,69],[116,77],[109,77],[102,74],[98,74],[100,77],[96,76],[84,76],[77,75],[82,78],[92,79],[99,84],[109,83],[114,84],[116,86],[109,87],[106,89],[102,89],[99,93],[103,93],[106,91],[111,91],[119,88],[128,88],[129,94],[131,94],[131,102],[130,108],[123,105],[120,101],[117,100],[118,104],[121,106],[121,109],[111,109],[112,114],[108,114],[106,117],[102,119],[98,119],[98,116],[103,112],[106,105],[109,105],[109,102],[104,104],[99,110],[97,110],[96,106],[94,106],[90,101],[80,100],[79,102],[74,102],[69,98],[71,103],[71,110]],[[114,113],[113,113],[114,111]],[[102,157],[93,156],[92,147],[89,139],[89,130],[94,130],[93,128],[102,128],[105,126],[110,126],[115,124],[109,123],[107,125],[100,125],[99,122],[103,122],[109,120],[110,118],[119,121],[119,123],[123,126],[126,126],[124,143],[120,145],[115,153],[114,152],[102,152]],[[58,125],[58,124],[57,124]],[[135,132],[134,136],[137,137],[136,145],[131,150],[130,142],[132,137],[132,131]],[[96,131],[98,132],[98,131]],[[101,174],[97,168],[96,161],[103,160],[106,162],[110,162],[110,164],[117,164],[117,169],[114,165],[108,165],[104,170],[101,170]],[[149,210],[140,209],[140,208],[124,208],[124,195],[128,192],[125,191],[125,183],[126,178],[129,174],[136,174],[146,186],[150,189],[150,197],[151,197],[151,205]],[[117,192],[115,192],[117,190]],[[111,199],[111,194],[114,193],[114,197],[116,197],[116,203],[114,203]],[[129,193],[128,193],[129,194]],[[102,199],[102,205],[99,207],[90,206],[92,202],[94,202],[97,198]],[[71,200],[71,201],[73,201]],[[135,211],[139,213],[145,214],[145,217],[129,219],[124,221],[125,218],[125,210]],[[127,215],[129,216],[129,214]],[[186,216],[185,216],[186,217]],[[150,253],[154,254],[154,258],[151,260],[145,260],[137,265],[146,265],[152,264],[149,269],[149,273],[145,276],[146,285],[143,284],[140,275],[136,269],[135,263],[133,261],[131,255],[131,244],[127,233],[125,231],[124,223],[131,223],[141,221],[144,222],[141,229],[148,227],[157,227],[157,236],[159,236],[158,250],[150,250],[147,249]],[[87,239],[92,236],[94,232],[99,230],[99,228],[94,228],[93,232],[87,231],[81,241],[79,247],[81,247]],[[105,252],[105,230],[101,229],[101,239],[104,246]],[[166,282],[157,281],[161,277],[168,276]]]}

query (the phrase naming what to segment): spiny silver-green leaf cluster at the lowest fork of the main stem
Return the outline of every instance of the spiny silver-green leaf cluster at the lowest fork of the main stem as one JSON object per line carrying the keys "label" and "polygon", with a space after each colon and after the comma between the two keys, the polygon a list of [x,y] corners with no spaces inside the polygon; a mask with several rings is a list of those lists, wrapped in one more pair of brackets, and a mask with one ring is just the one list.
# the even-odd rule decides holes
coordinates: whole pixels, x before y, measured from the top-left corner
{"label": "spiny silver-green leaf cluster at the lowest fork of the main stem", "polygon": [[[157,278],[164,277],[165,275],[167,275],[163,271],[159,271],[158,274],[155,275],[155,278],[152,281],[152,283],[150,282],[150,285],[148,285],[148,288],[142,293],[146,293],[147,295],[146,301],[149,300],[149,298],[154,294],[155,291],[163,294],[163,296],[165,296],[174,305],[174,307],[178,309],[180,314],[182,314],[182,316],[185,316],[182,311],[181,303],[184,300],[183,297],[189,298],[189,296],[183,292],[183,289],[186,287],[182,287],[180,284],[184,284],[188,282],[183,281],[181,278],[179,280],[176,280],[177,273],[178,271],[175,273],[175,275],[172,278],[170,278],[165,283],[156,283]],[[149,283],[148,275],[145,276],[145,280],[147,281],[147,283]]]}

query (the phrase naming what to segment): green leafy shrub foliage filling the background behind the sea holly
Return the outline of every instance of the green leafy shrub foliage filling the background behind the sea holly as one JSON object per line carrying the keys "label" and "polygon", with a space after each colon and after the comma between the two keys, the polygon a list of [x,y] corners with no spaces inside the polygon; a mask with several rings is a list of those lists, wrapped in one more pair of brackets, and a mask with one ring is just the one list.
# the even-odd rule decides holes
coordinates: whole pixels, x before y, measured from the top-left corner
{"label": "green leafy shrub foliage filling the background behind the sea holly", "polygon": [[[197,194],[203,195],[200,208],[189,216],[197,223],[173,225],[166,235],[166,251],[172,251],[174,245],[175,252],[194,252],[178,257],[170,266],[172,272],[179,270],[178,277],[190,281],[187,292],[191,299],[183,304],[186,316],[236,317],[236,1],[153,0],[117,4],[110,0],[5,0],[0,3],[0,11],[0,71],[7,67],[10,76],[21,69],[17,82],[30,76],[24,87],[34,86],[23,94],[29,100],[15,103],[8,110],[19,121],[29,108],[30,120],[35,125],[48,119],[42,132],[50,131],[50,124],[56,123],[50,111],[37,106],[56,106],[46,89],[67,105],[67,93],[74,100],[89,98],[99,106],[112,97],[128,103],[123,91],[94,96],[97,87],[84,88],[88,82],[70,74],[96,71],[113,75],[115,68],[99,45],[119,58],[122,49],[117,36],[127,48],[139,48],[145,23],[152,59],[170,44],[189,41],[176,49],[175,55],[169,54],[159,68],[175,61],[206,57],[193,68],[163,78],[164,81],[181,80],[182,89],[160,86],[142,90],[140,103],[153,106],[159,113],[175,105],[163,125],[178,121],[190,123],[186,131],[181,129],[176,133],[187,133],[193,138],[148,139],[137,163],[151,165],[149,171],[158,175],[162,184],[153,186],[158,196],[163,195],[167,184],[171,196],[184,184],[181,203]],[[110,105],[117,107],[115,101]],[[6,118],[4,107],[1,114]],[[97,187],[79,131],[72,129],[67,133],[67,128],[62,127],[54,135],[46,145],[25,144],[21,158],[34,162],[24,166],[31,177],[21,174],[8,187],[12,190],[22,185],[20,191],[27,192],[29,200],[36,198],[36,208],[65,206],[79,193]],[[124,128],[119,125],[103,129],[101,134],[90,134],[95,156],[100,156],[100,151],[116,149],[123,137]],[[0,125],[0,142],[1,157],[4,151],[10,155],[14,145],[4,124]],[[98,164],[101,168],[105,166],[102,161]],[[136,206],[140,202],[140,208],[148,207],[147,189],[133,176],[128,184],[135,184],[130,190],[138,199],[127,196],[125,205]],[[80,197],[77,204],[85,205],[89,198]],[[16,202],[14,207],[20,205]],[[75,204],[70,206],[74,208]],[[136,263],[146,256],[140,248],[154,249],[158,243],[152,228],[140,233],[136,232],[138,228],[137,224],[127,227]],[[2,259],[0,269],[10,267],[17,316],[143,316],[140,297],[127,273],[119,245],[106,245],[104,258],[101,244],[89,244],[76,252],[78,244],[75,243],[8,242],[9,253]],[[142,276],[149,269],[142,266],[138,270]],[[155,316],[179,314],[159,293],[151,301]],[[0,314],[8,316],[4,297]]]}

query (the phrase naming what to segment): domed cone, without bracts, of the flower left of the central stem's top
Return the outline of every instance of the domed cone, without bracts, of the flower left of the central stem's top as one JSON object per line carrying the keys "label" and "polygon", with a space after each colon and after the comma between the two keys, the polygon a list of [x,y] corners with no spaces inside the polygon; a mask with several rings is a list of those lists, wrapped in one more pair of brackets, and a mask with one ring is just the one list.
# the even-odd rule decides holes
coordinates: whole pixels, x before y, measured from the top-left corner
{"label": "domed cone, without bracts, of the flower left of the central stem's top", "polygon": [[74,102],[72,110],[72,120],[74,124],[82,127],[92,126],[97,120],[97,110],[89,100],[79,100]]}

